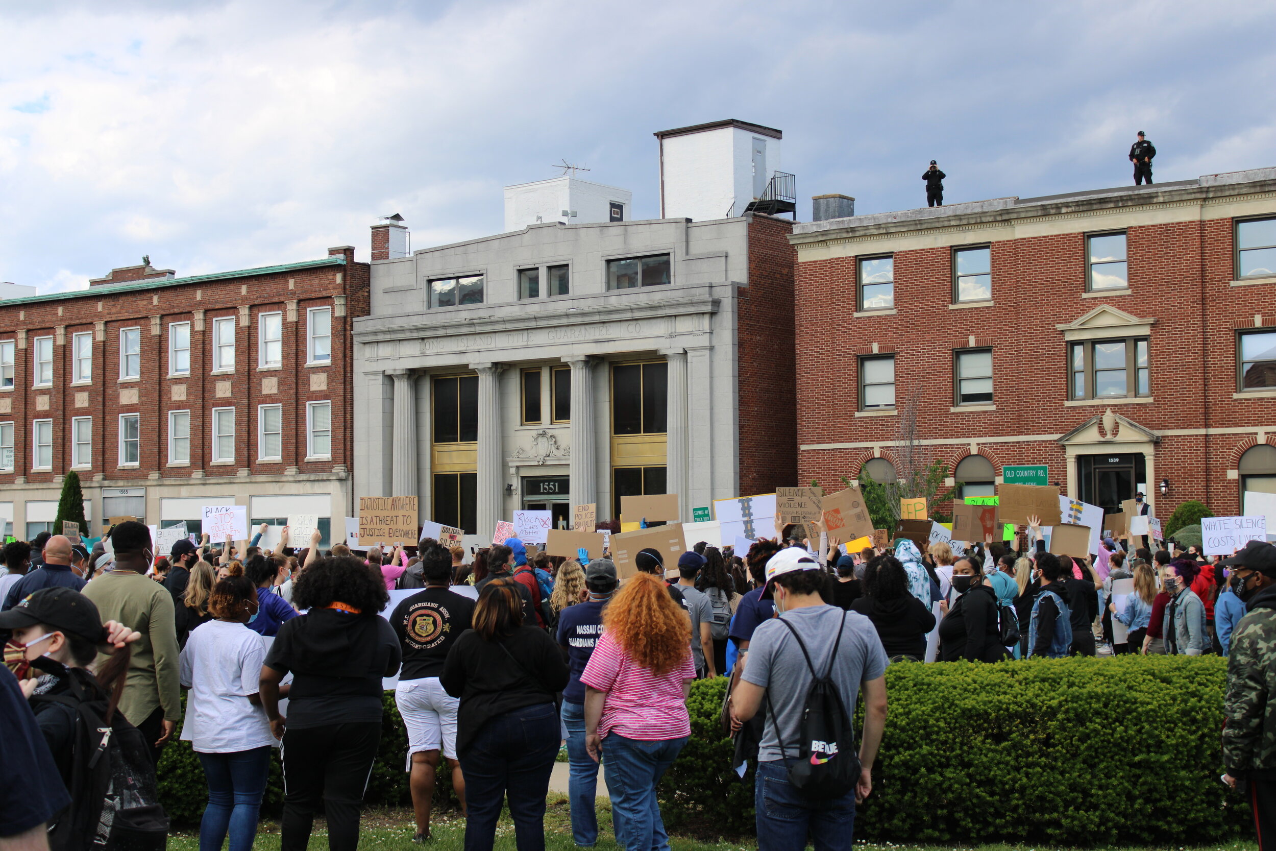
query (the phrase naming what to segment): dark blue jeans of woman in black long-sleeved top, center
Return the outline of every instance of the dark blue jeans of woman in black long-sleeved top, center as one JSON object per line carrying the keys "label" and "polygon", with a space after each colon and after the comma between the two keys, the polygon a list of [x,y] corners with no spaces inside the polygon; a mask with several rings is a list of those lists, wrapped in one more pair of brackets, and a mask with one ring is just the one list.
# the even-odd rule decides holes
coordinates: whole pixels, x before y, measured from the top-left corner
{"label": "dark blue jeans of woman in black long-sleeved top, center", "polygon": [[560,735],[553,703],[512,709],[478,730],[461,754],[470,809],[466,851],[491,851],[507,797],[518,851],[544,851],[545,795]]}

